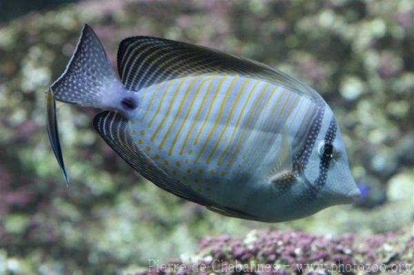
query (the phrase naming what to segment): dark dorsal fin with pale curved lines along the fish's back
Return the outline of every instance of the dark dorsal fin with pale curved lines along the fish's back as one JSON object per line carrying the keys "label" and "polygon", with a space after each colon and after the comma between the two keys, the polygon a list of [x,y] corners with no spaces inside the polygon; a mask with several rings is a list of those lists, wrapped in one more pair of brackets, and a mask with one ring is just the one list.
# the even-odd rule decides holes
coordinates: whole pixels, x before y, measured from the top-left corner
{"label": "dark dorsal fin with pale curved lines along the fish's back", "polygon": [[301,95],[320,98],[304,83],[267,65],[200,45],[156,37],[129,37],[119,44],[118,72],[128,90],[198,74],[239,74],[284,85]]}

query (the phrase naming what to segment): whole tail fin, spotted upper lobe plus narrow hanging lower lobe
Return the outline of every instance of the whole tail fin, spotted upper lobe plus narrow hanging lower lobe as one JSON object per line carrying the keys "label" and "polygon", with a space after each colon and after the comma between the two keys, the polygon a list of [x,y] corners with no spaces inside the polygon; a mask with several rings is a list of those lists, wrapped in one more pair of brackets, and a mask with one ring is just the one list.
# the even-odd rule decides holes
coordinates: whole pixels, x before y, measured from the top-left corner
{"label": "whole tail fin, spotted upper lobe plus narrow hanging lower lobe", "polygon": [[119,110],[128,116],[128,111],[132,108],[125,110],[124,105],[128,103],[128,107],[135,108],[137,104],[134,99],[130,99],[131,96],[126,95],[128,91],[112,70],[97,35],[90,26],[83,26],[81,37],[65,72],[50,86],[47,93],[48,136],[66,183],[69,179],[59,142],[55,100]]}

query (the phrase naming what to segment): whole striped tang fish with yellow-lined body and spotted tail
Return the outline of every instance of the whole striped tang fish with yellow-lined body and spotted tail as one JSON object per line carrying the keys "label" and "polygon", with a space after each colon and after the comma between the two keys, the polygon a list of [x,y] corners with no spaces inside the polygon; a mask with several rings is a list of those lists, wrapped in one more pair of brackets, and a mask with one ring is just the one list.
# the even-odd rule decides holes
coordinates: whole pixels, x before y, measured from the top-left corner
{"label": "whole striped tang fish with yellow-lined body and spotted tail", "polygon": [[47,94],[50,143],[66,182],[55,101],[101,109],[95,130],[134,170],[225,216],[277,223],[359,196],[333,111],[295,77],[141,36],[119,43],[117,69],[83,26]]}

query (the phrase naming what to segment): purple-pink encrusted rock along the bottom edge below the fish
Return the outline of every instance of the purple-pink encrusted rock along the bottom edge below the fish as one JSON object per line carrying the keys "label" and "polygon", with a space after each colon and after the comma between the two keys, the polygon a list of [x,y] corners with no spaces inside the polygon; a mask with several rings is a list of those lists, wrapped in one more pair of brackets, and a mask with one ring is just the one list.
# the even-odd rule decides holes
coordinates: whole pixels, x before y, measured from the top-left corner
{"label": "purple-pink encrusted rock along the bottom edge below the fish", "polygon": [[411,274],[413,229],[364,237],[255,230],[244,239],[202,238],[194,255],[150,262],[136,274]]}

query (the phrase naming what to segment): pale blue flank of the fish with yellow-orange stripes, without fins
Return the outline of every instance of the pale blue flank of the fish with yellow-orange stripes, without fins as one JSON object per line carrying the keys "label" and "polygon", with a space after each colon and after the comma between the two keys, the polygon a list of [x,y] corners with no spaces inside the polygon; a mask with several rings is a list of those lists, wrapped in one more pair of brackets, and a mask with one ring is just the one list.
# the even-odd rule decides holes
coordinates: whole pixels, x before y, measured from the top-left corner
{"label": "pale blue flank of the fish with yellow-orange stripes, without fins", "polygon": [[312,108],[280,85],[235,75],[164,81],[138,99],[128,132],[148,158],[195,192],[239,207],[250,207],[249,190],[287,157],[284,139],[300,129],[299,110]]}

